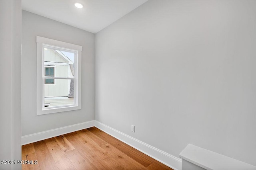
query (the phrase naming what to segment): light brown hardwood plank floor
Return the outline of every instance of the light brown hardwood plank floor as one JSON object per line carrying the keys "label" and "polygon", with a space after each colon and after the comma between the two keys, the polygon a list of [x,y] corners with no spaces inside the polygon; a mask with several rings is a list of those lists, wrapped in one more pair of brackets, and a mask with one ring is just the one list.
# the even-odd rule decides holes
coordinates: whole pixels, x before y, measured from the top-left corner
{"label": "light brown hardwood plank floor", "polygon": [[96,127],[22,146],[22,170],[172,170]]}

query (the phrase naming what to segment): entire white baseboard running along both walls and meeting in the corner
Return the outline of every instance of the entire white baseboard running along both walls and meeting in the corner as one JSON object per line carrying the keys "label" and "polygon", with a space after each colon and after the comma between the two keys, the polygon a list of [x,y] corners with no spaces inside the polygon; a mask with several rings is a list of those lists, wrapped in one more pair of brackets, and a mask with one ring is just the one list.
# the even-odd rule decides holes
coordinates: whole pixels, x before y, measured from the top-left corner
{"label": "entire white baseboard running along both walls and meeting in the corner", "polygon": [[140,150],[140,152],[143,152],[144,154],[158,160],[159,162],[162,162],[163,164],[169,166],[170,168],[174,170],[181,170],[182,160],[180,158],[177,158],[176,156],[173,156],[160,149],[152,147],[151,145],[148,145],[142,141],[139,141],[138,139],[130,137],[129,135],[126,135],[120,131],[117,131],[116,129],[113,129],[112,127],[104,125],[103,123],[100,123],[96,120],[78,123],[75,125],[70,125],[65,127],[60,127],[60,128],[56,128],[48,131],[39,132],[39,133],[34,133],[31,135],[25,135],[21,137],[21,143],[22,145],[26,145],[29,143],[41,141],[44,139],[49,139],[51,137],[56,137],[59,135],[71,133],[74,131],[79,131],[81,129],[86,129],[94,126],[108,133],[109,135],[115,137],[116,139],[126,143],[127,145],[130,145],[131,147],[137,150]]}

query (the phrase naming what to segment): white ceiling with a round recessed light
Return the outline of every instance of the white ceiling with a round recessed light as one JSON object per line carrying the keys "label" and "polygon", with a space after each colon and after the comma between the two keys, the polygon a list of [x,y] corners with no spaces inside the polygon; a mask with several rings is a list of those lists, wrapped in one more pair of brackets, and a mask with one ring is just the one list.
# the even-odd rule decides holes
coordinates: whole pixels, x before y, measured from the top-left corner
{"label": "white ceiling with a round recessed light", "polygon": [[[148,0],[22,0],[22,9],[97,33]],[[75,2],[84,8],[78,9]]]}

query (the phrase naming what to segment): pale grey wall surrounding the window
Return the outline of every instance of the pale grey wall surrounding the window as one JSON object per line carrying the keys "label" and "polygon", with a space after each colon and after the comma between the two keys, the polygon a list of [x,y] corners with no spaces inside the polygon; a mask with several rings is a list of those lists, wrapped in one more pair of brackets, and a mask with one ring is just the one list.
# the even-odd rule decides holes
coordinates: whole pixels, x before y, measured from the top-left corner
{"label": "pale grey wall surrounding the window", "polygon": [[[81,110],[36,115],[36,35],[83,47]],[[93,33],[22,11],[22,136],[94,120],[94,40]]]}

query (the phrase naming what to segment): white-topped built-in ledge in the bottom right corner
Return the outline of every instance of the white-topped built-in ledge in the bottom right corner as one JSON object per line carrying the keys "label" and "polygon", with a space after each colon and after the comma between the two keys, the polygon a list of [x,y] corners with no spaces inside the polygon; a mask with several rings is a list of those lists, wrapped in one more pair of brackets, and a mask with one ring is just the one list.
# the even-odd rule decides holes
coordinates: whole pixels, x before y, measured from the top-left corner
{"label": "white-topped built-in ledge in the bottom right corner", "polygon": [[191,144],[179,156],[182,170],[256,170],[256,166]]}

